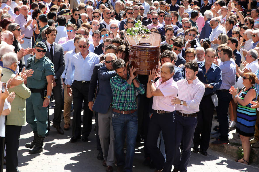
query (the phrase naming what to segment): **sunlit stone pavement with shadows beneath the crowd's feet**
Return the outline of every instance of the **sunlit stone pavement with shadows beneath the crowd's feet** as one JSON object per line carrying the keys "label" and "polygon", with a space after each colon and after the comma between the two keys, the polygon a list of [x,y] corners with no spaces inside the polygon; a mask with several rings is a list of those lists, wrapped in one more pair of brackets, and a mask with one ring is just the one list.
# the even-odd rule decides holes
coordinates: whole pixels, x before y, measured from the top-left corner
{"label": "sunlit stone pavement with shadows beneath the crowd's feet", "polygon": [[[51,103],[53,105],[54,103]],[[54,107],[50,107],[50,114],[53,114]],[[71,115],[72,117],[72,115]],[[82,117],[83,118],[83,117]],[[50,116],[53,119],[53,115]],[[61,122],[63,128],[64,121]],[[94,129],[93,120],[93,129]],[[64,131],[64,135],[57,133],[56,129],[51,127],[49,135],[44,140],[43,152],[39,154],[29,154],[25,143],[33,139],[33,132],[27,124],[22,127],[19,148],[19,170],[21,172],[102,172],[106,171],[106,167],[102,166],[102,161],[96,159],[98,151],[96,150],[96,136],[92,130],[89,141],[82,142],[79,140],[70,143],[71,129]],[[134,172],[153,172],[148,167],[142,165],[144,161],[143,146],[135,150],[133,162]],[[222,155],[208,150],[209,155],[193,153],[190,163],[188,164],[188,172],[258,172],[259,168],[236,163],[231,157],[221,157]],[[5,169],[4,169],[5,171]],[[116,167],[115,170],[116,171]]]}

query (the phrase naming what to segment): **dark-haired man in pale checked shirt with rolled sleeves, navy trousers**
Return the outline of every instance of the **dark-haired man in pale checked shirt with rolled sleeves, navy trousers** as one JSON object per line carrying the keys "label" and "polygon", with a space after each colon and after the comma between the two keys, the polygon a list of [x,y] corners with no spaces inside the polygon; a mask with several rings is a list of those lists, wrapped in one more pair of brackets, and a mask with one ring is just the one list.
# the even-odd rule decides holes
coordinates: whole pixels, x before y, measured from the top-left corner
{"label": "dark-haired man in pale checked shirt with rolled sleeves, navy trousers", "polygon": [[[175,105],[175,156],[174,171],[186,171],[191,157],[191,144],[197,125],[197,112],[203,94],[204,84],[199,81],[198,64],[195,60],[184,64],[185,79],[176,82],[178,86],[178,97],[172,99]],[[182,141],[182,157],[180,159],[180,143]]]}

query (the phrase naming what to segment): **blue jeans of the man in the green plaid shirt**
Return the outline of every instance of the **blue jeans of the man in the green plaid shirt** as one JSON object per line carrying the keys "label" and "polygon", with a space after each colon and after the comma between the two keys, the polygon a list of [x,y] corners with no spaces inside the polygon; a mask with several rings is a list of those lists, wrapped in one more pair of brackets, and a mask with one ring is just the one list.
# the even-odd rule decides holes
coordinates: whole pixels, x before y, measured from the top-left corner
{"label": "blue jeans of the man in the green plaid shirt", "polygon": [[[115,155],[117,157],[117,165],[125,165],[124,171],[132,172],[136,137],[138,133],[138,113],[137,111],[132,114],[120,114],[113,112],[112,123],[115,136]],[[123,153],[125,136],[127,136],[126,161]]]}

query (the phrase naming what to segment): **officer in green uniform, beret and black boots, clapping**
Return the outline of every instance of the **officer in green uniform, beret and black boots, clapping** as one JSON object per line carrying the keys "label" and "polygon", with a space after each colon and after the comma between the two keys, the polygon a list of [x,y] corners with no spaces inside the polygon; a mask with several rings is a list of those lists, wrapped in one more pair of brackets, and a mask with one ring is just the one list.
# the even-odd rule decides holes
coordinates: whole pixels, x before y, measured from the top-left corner
{"label": "officer in green uniform, beret and black boots, clapping", "polygon": [[42,152],[43,140],[48,133],[47,106],[53,87],[54,66],[45,56],[47,47],[43,42],[37,42],[33,51],[35,55],[27,61],[27,69],[33,69],[34,73],[27,78],[31,96],[26,99],[26,122],[34,134],[37,132],[37,137],[27,143],[26,147],[31,147],[29,153],[39,153]]}

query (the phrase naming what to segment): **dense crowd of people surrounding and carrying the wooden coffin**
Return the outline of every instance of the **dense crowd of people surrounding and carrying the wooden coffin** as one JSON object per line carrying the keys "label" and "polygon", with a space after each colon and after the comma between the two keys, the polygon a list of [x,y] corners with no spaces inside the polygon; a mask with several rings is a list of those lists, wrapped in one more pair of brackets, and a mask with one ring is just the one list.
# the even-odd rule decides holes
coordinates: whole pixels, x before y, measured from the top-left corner
{"label": "dense crowd of people surrounding and carrying the wooden coffin", "polygon": [[[7,172],[19,171],[26,122],[34,138],[25,147],[40,153],[51,125],[59,134],[71,130],[71,143],[86,142],[93,115],[97,159],[106,171],[116,164],[118,172],[131,172],[141,141],[143,165],[187,171],[191,151],[207,156],[210,139],[228,144],[229,128],[242,142],[243,158],[236,161],[249,164],[251,144],[259,147],[259,0],[149,3],[0,0]],[[138,21],[161,35],[160,61],[149,75],[138,75],[129,61],[125,32]]]}

